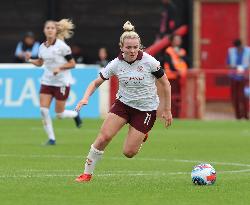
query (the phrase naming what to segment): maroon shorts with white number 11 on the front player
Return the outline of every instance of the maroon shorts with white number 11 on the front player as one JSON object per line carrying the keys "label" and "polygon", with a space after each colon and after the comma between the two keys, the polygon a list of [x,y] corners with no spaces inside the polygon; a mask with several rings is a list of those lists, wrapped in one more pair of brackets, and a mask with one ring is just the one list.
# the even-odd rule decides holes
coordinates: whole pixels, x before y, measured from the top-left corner
{"label": "maroon shorts with white number 11 on the front player", "polygon": [[133,128],[144,134],[152,129],[156,120],[156,110],[140,111],[125,105],[120,100],[115,101],[110,112],[126,119]]}

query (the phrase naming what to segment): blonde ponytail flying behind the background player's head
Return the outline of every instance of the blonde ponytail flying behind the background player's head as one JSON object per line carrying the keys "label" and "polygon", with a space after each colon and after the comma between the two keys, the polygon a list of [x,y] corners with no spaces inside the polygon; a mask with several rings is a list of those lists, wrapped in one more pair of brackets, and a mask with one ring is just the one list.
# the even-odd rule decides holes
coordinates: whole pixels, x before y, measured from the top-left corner
{"label": "blonde ponytail flying behind the background player's head", "polygon": [[75,25],[70,19],[62,19],[56,22],[56,28],[57,28],[56,37],[61,40],[65,40],[73,36],[74,32],[72,30],[75,28]]}

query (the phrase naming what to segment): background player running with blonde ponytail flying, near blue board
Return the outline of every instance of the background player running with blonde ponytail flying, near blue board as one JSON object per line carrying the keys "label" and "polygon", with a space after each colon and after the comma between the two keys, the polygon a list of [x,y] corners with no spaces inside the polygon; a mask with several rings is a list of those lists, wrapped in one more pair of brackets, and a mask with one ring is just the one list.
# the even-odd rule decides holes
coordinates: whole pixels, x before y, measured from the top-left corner
{"label": "background player running with blonde ponytail flying, near blue board", "polygon": [[49,114],[49,107],[53,98],[56,99],[56,116],[61,118],[74,118],[76,126],[81,126],[81,119],[76,111],[65,110],[65,103],[70,92],[71,72],[75,67],[75,60],[71,55],[70,47],[64,39],[73,34],[74,24],[68,19],[59,22],[47,21],[44,26],[46,41],[39,47],[38,59],[26,56],[28,62],[42,66],[45,71],[41,79],[40,110],[44,129],[48,135],[47,145],[55,145],[55,134]]}

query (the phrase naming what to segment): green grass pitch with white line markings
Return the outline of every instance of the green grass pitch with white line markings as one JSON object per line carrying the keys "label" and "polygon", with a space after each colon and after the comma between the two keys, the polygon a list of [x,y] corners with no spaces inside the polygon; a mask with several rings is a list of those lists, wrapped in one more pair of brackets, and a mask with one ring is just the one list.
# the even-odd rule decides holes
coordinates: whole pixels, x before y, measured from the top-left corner
{"label": "green grass pitch with white line markings", "polygon": [[[133,159],[122,155],[127,127],[114,138],[97,165],[93,181],[74,179],[102,120],[54,120],[57,145],[43,146],[40,120],[0,120],[1,205],[195,205],[249,204],[249,121],[174,120],[157,122]],[[200,162],[217,171],[212,186],[191,183]]]}

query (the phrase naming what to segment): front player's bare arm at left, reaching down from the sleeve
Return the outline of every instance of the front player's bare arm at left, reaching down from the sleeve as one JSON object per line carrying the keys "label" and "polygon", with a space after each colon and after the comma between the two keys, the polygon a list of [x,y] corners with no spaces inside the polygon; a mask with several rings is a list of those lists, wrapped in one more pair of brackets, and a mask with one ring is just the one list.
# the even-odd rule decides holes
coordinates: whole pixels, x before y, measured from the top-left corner
{"label": "front player's bare arm at left, reaching down from the sleeve", "polygon": [[83,105],[87,105],[88,101],[89,101],[89,97],[95,92],[95,90],[104,82],[105,80],[101,77],[98,77],[97,79],[93,80],[87,90],[84,93],[83,98],[78,102],[78,104],[76,105],[75,110],[76,111],[80,111],[81,107]]}

